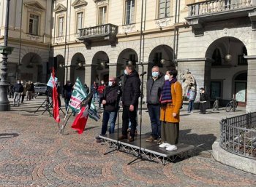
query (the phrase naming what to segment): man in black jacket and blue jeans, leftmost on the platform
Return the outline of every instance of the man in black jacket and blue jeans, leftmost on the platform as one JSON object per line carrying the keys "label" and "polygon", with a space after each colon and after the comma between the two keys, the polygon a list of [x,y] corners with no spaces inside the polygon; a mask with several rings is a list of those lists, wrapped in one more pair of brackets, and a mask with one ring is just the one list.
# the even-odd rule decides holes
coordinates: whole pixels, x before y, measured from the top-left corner
{"label": "man in black jacket and blue jeans, leftmost on the platform", "polygon": [[[108,122],[110,122],[109,133],[112,134],[115,131],[116,116],[119,109],[118,103],[121,97],[121,90],[118,87],[115,77],[109,77],[108,87],[105,87],[102,95],[103,120],[102,120],[102,132],[101,135],[105,135],[108,129]],[[96,137],[99,140],[99,137]]]}

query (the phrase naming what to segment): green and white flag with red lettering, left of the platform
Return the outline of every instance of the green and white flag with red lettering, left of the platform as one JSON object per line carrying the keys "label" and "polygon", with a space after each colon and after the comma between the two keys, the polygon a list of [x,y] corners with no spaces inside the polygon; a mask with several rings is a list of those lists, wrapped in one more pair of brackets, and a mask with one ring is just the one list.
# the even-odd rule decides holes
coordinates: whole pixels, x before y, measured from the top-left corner
{"label": "green and white flag with red lettering, left of the platform", "polygon": [[86,98],[86,89],[81,81],[77,78],[74,89],[70,98],[69,107],[72,111],[78,113],[80,111],[80,103]]}

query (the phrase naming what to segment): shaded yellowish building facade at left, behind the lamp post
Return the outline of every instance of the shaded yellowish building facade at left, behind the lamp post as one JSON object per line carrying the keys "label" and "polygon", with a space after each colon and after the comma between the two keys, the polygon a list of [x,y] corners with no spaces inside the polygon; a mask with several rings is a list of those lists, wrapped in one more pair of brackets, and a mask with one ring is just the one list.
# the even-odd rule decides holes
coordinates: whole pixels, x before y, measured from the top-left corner
{"label": "shaded yellowish building facade at left, behind the lamp post", "polygon": [[[6,1],[0,1],[0,44],[4,42]],[[45,82],[50,51],[52,1],[10,1],[8,81]]]}

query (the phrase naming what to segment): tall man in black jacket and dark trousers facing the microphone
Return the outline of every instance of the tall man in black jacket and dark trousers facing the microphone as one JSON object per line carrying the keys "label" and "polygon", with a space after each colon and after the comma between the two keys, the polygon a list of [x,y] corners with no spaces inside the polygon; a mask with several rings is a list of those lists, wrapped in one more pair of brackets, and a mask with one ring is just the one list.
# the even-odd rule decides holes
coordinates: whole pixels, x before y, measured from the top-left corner
{"label": "tall man in black jacket and dark trousers facing the microphone", "polygon": [[138,99],[140,97],[140,78],[138,72],[135,71],[133,65],[127,65],[124,70],[124,85],[122,92],[122,106],[123,106],[123,127],[122,135],[119,140],[127,139],[127,130],[129,126],[129,121],[132,124],[129,142],[134,141],[135,130],[136,130],[136,116],[138,108]]}

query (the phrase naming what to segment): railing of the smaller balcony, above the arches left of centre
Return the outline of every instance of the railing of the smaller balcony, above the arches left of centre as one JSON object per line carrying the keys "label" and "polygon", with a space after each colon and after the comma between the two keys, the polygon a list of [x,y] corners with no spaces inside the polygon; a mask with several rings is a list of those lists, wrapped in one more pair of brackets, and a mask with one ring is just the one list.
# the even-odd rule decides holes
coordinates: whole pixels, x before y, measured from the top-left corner
{"label": "railing of the smaller balcony, above the arches left of centre", "polygon": [[117,33],[118,26],[109,23],[105,25],[79,29],[78,39],[88,39],[97,36],[116,36]]}

